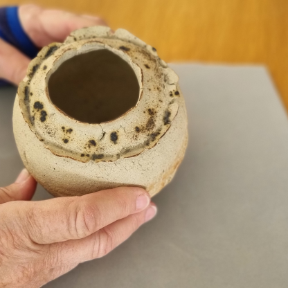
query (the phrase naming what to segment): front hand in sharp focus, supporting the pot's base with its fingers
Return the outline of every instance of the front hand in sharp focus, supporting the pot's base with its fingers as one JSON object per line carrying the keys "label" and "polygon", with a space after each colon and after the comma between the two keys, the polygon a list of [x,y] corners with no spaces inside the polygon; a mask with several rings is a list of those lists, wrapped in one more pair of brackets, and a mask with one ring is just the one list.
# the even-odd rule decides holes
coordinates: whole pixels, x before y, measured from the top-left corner
{"label": "front hand in sharp focus, supporting the pot's base with its fingers", "polygon": [[141,188],[27,201],[36,185],[23,170],[0,188],[0,287],[41,287],[106,255],[156,214]]}

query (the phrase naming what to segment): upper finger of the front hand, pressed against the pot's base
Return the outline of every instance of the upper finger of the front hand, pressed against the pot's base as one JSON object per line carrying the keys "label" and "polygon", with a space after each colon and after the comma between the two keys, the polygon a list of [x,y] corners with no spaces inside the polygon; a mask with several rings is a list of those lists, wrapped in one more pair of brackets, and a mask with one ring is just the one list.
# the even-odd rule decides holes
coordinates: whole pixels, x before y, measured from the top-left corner
{"label": "upper finger of the front hand, pressed against the pot's base", "polygon": [[33,242],[51,244],[87,237],[149,204],[150,196],[142,188],[120,187],[81,197],[26,203],[19,221]]}

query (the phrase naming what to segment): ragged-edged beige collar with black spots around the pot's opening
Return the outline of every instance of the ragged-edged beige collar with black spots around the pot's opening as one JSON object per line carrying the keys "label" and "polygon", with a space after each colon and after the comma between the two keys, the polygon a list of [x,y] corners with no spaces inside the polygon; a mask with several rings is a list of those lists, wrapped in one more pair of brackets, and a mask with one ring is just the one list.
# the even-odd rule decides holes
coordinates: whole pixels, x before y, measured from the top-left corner
{"label": "ragged-edged beige collar with black spots around the pot's opening", "polygon": [[[139,98],[122,116],[89,124],[56,107],[48,96],[47,83],[65,60],[100,48],[115,53],[132,67],[140,87]],[[178,76],[158,57],[155,48],[126,30],[114,33],[110,28],[95,26],[75,30],[63,44],[44,47],[30,62],[17,97],[26,123],[44,147],[57,156],[97,163],[137,156],[158,143],[177,115],[179,98],[183,97],[177,81]]]}

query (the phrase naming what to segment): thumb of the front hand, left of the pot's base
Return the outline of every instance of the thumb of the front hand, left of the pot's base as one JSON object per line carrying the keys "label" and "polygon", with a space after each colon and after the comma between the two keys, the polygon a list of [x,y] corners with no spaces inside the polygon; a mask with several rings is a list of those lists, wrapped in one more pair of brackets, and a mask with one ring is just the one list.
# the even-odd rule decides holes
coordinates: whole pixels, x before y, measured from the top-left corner
{"label": "thumb of the front hand, left of the pot's base", "polygon": [[0,204],[15,200],[30,200],[35,192],[37,182],[24,169],[10,186],[0,188]]}

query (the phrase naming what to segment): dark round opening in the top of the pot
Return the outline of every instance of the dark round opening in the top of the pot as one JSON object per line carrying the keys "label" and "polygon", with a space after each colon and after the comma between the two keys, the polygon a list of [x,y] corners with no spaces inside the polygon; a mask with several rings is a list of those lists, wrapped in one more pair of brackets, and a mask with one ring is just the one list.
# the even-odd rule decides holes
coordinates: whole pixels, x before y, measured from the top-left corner
{"label": "dark round opening in the top of the pot", "polygon": [[139,91],[132,67],[105,49],[64,61],[48,80],[53,104],[85,123],[120,117],[137,104]]}

